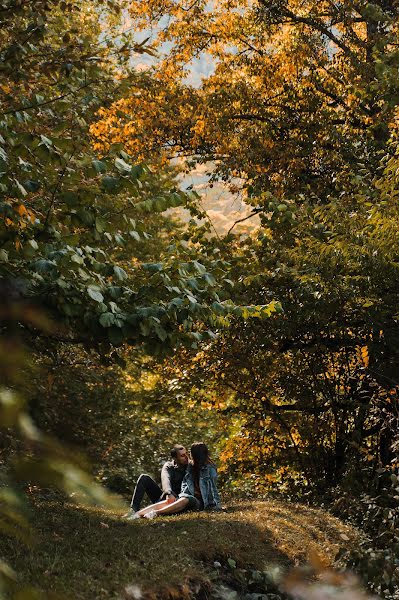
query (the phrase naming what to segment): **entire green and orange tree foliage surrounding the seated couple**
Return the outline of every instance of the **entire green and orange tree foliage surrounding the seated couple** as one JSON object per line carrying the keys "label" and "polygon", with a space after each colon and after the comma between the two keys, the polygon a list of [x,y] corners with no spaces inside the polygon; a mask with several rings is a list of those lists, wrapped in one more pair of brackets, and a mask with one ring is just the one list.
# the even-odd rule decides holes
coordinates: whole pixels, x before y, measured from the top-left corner
{"label": "entire green and orange tree foliage surrounding the seated couple", "polygon": [[[129,419],[150,432],[154,417],[169,443],[202,410],[226,487],[354,506],[378,538],[351,560],[393,593],[397,3],[0,0],[0,20],[0,423],[28,456],[14,477],[105,501],[38,424],[85,438],[110,479],[130,452],[154,456]],[[214,235],[177,174],[199,163],[256,229]],[[9,489],[5,529],[26,533]]]}

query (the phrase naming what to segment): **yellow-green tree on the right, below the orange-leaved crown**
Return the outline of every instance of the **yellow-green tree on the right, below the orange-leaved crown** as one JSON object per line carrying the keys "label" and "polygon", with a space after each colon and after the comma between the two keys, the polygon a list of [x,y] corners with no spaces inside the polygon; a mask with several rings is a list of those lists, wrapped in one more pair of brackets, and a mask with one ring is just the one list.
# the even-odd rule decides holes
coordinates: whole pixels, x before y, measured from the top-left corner
{"label": "yellow-green tree on the right, below the orange-leaved crown", "polygon": [[296,206],[294,226],[281,204],[257,236],[225,240],[241,271],[236,302],[273,296],[283,313],[184,355],[178,393],[232,419],[224,456],[239,480],[361,489],[395,465],[397,161],[324,206]]}

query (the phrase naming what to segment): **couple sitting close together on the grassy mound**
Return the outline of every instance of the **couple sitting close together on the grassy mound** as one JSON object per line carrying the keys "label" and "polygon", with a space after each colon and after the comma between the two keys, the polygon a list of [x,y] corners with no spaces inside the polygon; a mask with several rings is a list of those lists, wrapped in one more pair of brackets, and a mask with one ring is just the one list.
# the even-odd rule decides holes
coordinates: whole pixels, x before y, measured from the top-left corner
{"label": "couple sitting close together on the grassy mound", "polygon": [[[162,467],[162,489],[149,475],[140,475],[125,517],[129,520],[153,519],[183,510],[221,510],[217,471],[206,444],[193,444],[190,454],[191,460],[184,446],[174,446],[172,460]],[[145,493],[153,504],[140,510]]]}

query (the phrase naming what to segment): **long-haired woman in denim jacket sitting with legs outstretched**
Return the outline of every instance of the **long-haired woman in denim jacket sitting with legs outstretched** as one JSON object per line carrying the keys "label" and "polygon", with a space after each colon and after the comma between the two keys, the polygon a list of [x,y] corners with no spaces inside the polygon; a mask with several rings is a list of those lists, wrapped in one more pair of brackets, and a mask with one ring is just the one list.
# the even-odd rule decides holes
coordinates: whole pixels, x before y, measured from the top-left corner
{"label": "long-haired woman in denim jacket sitting with legs outstretched", "polygon": [[203,442],[191,446],[191,461],[183,479],[181,493],[175,501],[164,500],[140,510],[137,517],[152,519],[158,515],[171,515],[191,510],[221,510],[216,487],[217,471]]}

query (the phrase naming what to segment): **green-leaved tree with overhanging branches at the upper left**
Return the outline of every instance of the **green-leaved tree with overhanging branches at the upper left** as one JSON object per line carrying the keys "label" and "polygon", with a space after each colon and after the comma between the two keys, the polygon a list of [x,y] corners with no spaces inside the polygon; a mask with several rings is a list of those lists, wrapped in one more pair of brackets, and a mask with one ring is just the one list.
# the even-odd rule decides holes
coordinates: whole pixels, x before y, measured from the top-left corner
{"label": "green-leaved tree with overhanging branches at the upper left", "polygon": [[196,344],[225,265],[198,262],[179,230],[163,260],[146,263],[142,249],[151,234],[170,235],[170,219],[158,215],[195,210],[194,195],[120,145],[99,154],[89,134],[99,108],[136,80],[128,59],[145,48],[105,29],[117,3],[108,13],[84,0],[3,4],[2,275],[18,274],[22,295],[50,307],[75,341]]}

